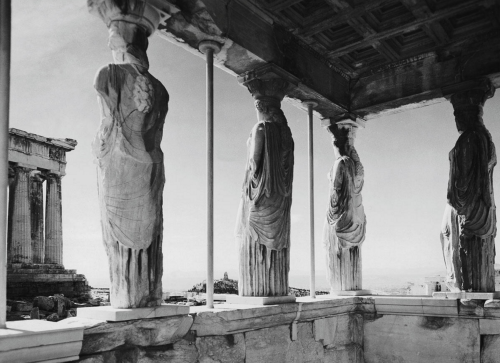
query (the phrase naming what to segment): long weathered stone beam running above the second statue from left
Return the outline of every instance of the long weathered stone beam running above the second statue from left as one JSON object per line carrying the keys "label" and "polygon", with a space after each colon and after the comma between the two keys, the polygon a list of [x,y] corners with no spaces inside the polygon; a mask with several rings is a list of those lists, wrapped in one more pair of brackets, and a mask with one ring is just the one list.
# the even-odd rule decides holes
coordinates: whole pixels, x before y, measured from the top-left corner
{"label": "long weathered stone beam running above the second statue from left", "polygon": [[172,5],[150,1],[169,18],[158,34],[200,57],[198,44],[214,40],[224,44],[215,59],[219,68],[243,76],[273,64],[299,81],[287,93],[288,101],[304,108],[302,101],[315,100],[322,117],[345,113],[349,107],[350,78],[308,45],[273,23],[250,1],[186,0]]}

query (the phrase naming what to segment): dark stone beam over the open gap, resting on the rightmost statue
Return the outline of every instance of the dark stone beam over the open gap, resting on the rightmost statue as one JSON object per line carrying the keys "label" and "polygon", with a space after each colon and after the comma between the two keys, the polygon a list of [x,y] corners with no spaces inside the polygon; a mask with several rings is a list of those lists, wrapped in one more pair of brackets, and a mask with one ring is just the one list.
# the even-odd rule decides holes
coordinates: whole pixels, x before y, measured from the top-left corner
{"label": "dark stone beam over the open gap, resting on the rightmost statue", "polygon": [[449,52],[414,57],[353,80],[350,111],[370,119],[422,107],[441,102],[464,82],[482,77],[500,87],[500,34],[458,51],[459,56]]}

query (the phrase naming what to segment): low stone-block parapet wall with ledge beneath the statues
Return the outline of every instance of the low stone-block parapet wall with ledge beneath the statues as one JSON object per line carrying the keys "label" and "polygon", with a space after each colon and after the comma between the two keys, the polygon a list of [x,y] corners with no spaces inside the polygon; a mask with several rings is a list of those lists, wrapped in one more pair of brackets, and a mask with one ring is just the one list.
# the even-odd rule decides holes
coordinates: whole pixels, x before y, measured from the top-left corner
{"label": "low stone-block parapet wall with ledge beneath the statues", "polygon": [[[500,301],[499,301],[500,303]],[[85,325],[79,362],[500,362],[500,304],[348,297]]]}

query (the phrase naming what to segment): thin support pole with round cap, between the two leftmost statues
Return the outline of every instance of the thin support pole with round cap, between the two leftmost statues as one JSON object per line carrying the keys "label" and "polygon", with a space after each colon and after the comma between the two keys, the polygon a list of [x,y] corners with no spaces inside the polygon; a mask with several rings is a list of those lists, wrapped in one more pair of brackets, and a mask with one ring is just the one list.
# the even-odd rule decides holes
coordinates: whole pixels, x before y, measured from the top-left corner
{"label": "thin support pole with round cap, between the two leftmost statues", "polygon": [[207,61],[207,308],[214,307],[214,54],[219,43],[204,40],[199,49]]}

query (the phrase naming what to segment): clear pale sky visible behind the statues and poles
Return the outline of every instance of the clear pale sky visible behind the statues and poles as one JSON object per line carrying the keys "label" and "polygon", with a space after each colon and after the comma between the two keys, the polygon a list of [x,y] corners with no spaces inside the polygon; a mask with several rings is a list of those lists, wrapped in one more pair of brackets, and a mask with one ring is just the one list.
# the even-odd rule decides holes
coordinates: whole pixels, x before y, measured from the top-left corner
{"label": "clear pale sky visible behind the statues and poles", "polygon": [[[93,79],[112,62],[107,29],[83,0],[13,0],[10,127],[72,138],[62,180],[64,265],[94,287],[109,285],[101,238],[91,143],[99,124]],[[164,275],[166,290],[188,289],[206,270],[205,64],[158,35],[150,38],[150,73],[170,94],[161,144],[165,155]],[[291,225],[292,286],[307,287],[309,197],[307,115],[282,104],[295,141]],[[500,145],[500,92],[486,102],[484,122]],[[253,99],[236,78],[215,70],[215,277],[237,278],[236,212],[246,141],[256,123]],[[362,247],[364,288],[444,272],[439,239],[446,204],[448,153],[458,138],[453,108],[443,102],[371,119],[358,130],[365,168],[367,216]],[[329,134],[314,119],[317,287],[326,288],[322,227],[327,173],[334,162]],[[494,189],[500,190],[500,179]],[[497,192],[497,195],[499,193]],[[498,198],[498,197],[497,197]],[[496,203],[499,204],[498,199]],[[498,244],[497,244],[498,245]],[[497,263],[499,258],[497,257]]]}

